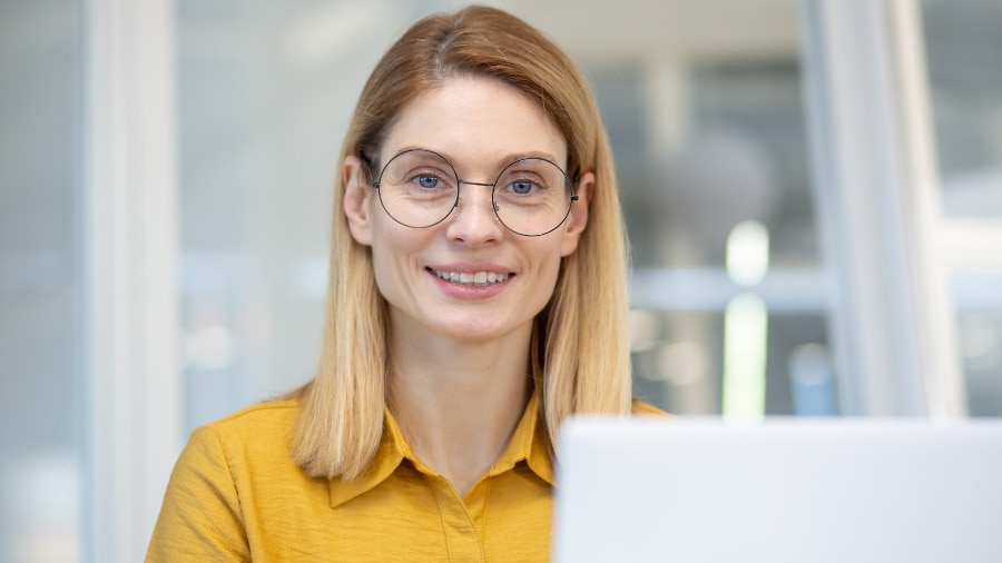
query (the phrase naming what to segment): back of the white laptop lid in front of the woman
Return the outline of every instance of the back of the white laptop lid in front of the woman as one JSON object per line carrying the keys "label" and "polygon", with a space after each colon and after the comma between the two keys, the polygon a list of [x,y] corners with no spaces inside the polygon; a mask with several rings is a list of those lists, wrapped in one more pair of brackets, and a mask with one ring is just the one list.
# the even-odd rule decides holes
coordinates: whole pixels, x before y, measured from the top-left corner
{"label": "back of the white laptop lid in front of the woman", "polygon": [[1002,421],[586,417],[561,436],[557,562],[1002,562]]}

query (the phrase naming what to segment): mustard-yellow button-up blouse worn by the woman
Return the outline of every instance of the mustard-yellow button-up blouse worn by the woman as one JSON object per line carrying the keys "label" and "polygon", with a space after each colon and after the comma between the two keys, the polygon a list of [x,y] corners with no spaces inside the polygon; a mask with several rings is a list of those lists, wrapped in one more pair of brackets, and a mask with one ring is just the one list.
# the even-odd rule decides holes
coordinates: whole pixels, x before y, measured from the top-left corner
{"label": "mustard-yellow button-up blouse worn by the woman", "polygon": [[146,560],[546,561],[553,466],[537,409],[533,396],[508,448],[461,498],[389,411],[372,466],[342,482],[293,463],[295,401],[245,408],[191,434]]}

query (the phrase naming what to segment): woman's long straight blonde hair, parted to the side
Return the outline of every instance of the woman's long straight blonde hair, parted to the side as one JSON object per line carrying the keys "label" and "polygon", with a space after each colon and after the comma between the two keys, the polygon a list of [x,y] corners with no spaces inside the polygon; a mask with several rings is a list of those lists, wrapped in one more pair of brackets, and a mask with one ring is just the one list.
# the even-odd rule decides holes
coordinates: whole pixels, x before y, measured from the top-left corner
{"label": "woman's long straight blonde hair, parted to the side", "polygon": [[[531,343],[541,421],[556,446],[557,428],[570,414],[630,411],[626,233],[608,139],[581,72],[549,39],[504,11],[474,6],[425,18],[370,76],[338,170],[348,155],[377,162],[411,101],[471,75],[497,78],[538,100],[567,139],[568,172],[596,175],[588,227],[563,259]],[[310,476],[352,480],[369,467],[383,432],[389,320],[370,248],[352,238],[342,213],[344,188],[338,175],[323,348],[316,377],[295,393],[301,413],[293,455]]]}

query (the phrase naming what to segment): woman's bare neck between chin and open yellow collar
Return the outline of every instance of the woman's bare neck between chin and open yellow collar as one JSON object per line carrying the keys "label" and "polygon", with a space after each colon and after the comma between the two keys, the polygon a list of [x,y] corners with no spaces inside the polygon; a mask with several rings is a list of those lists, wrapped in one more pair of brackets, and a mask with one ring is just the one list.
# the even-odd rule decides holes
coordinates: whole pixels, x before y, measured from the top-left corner
{"label": "woman's bare neck between chin and open yellow collar", "polygon": [[485,343],[391,330],[390,411],[422,462],[460,496],[504,452],[531,392],[531,326]]}

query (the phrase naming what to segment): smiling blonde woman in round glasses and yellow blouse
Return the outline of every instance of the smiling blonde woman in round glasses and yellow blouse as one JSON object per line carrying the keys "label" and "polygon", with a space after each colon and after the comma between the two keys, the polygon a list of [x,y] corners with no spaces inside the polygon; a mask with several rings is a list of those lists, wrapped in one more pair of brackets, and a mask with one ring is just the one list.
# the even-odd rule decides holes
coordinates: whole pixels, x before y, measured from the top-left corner
{"label": "smiling blonde woman in round glasses and yellow blouse", "polygon": [[428,18],[370,77],[340,169],[316,378],[195,431],[148,559],[548,559],[561,421],[631,409],[587,81],[502,11]]}

